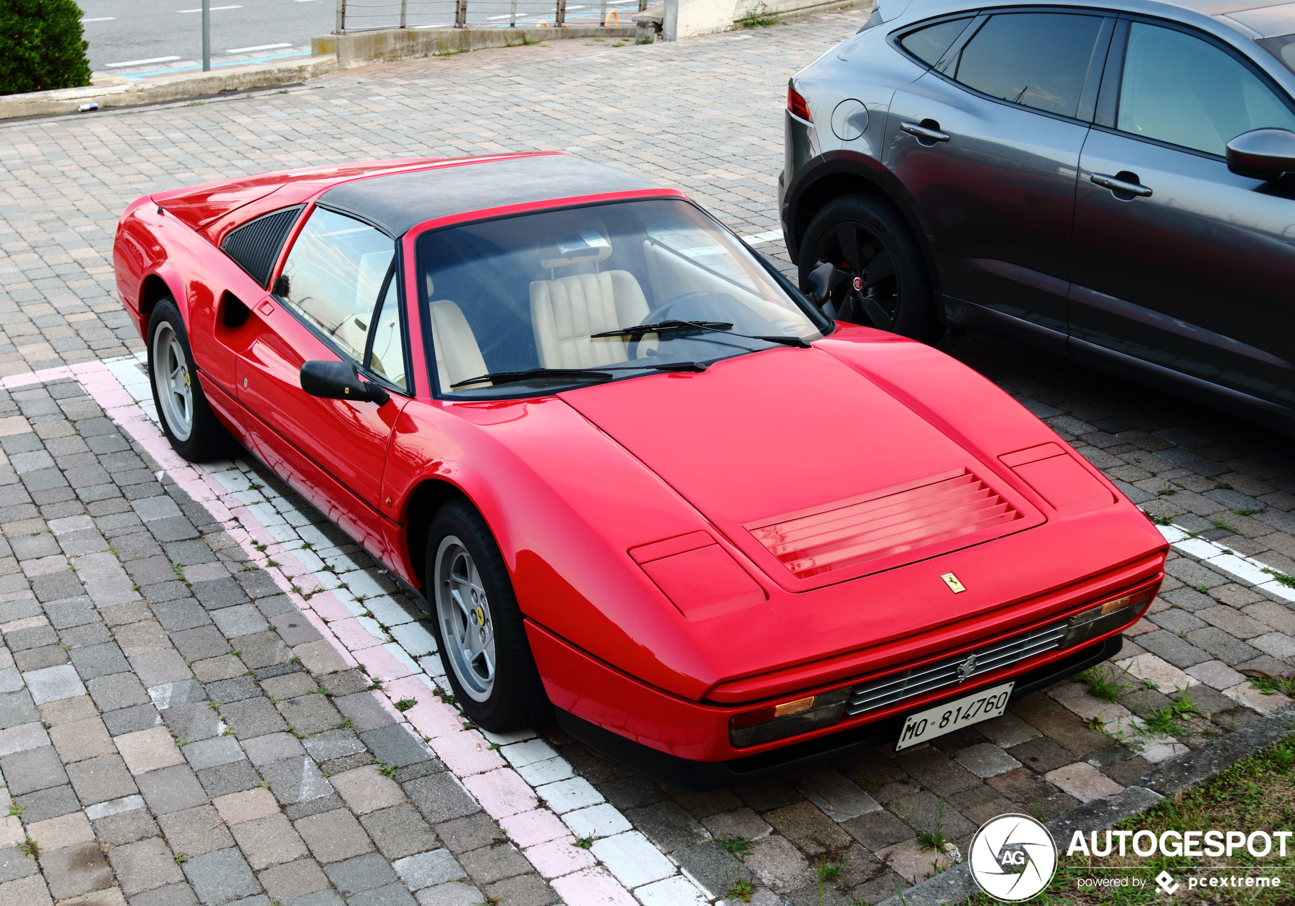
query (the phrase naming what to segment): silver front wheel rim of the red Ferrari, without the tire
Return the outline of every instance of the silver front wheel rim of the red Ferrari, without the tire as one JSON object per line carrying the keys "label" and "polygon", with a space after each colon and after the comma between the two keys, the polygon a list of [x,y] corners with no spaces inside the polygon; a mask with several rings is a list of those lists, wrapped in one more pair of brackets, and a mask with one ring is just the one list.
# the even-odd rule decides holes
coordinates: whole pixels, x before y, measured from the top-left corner
{"label": "silver front wheel rim of the red Ferrari, without the tire", "polygon": [[473,702],[486,702],[495,689],[495,620],[477,563],[453,535],[440,541],[434,581],[449,667]]}

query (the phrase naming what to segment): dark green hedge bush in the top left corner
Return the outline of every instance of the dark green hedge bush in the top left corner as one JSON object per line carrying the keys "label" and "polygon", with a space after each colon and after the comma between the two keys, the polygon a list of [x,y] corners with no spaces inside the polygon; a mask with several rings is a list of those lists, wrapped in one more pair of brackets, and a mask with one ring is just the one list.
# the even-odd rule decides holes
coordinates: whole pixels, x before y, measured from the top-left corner
{"label": "dark green hedge bush in the top left corner", "polygon": [[0,94],[89,84],[74,0],[0,0]]}

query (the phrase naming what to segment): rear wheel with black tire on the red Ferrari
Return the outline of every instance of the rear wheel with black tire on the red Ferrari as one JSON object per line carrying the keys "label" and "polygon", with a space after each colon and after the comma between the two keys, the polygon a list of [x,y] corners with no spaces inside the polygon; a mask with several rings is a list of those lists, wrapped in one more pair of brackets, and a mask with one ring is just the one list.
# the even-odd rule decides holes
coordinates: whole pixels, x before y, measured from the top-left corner
{"label": "rear wheel with black tire on the red Ferrari", "polygon": [[[158,299],[149,317],[148,331],[149,383],[153,384],[153,403],[157,405],[162,432],[172,449],[189,462],[206,462],[231,456],[237,444],[219,421],[202,391],[193,347],[184,318],[172,299]],[[180,361],[183,356],[184,361]],[[159,361],[166,359],[166,362]],[[179,377],[175,377],[179,375]],[[186,393],[171,392],[174,384]],[[181,409],[186,409],[188,419]]]}

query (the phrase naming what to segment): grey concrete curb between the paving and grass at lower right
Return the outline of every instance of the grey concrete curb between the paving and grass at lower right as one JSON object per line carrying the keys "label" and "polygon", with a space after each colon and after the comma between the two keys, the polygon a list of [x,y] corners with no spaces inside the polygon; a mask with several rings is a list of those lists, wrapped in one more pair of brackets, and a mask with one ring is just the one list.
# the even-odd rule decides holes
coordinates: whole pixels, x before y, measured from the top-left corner
{"label": "grey concrete curb between the paving and grass at lower right", "polygon": [[[1295,733],[1295,705],[1251,721],[1208,746],[1162,761],[1155,770],[1142,775],[1140,786],[1128,787],[1118,796],[1085,802],[1059,818],[1053,818],[1046,827],[1057,841],[1057,848],[1064,852],[1075,831],[1084,834],[1099,831],[1124,818],[1140,815],[1167,796],[1208,780],[1292,733]],[[947,906],[961,903],[979,890],[971,879],[970,866],[961,862],[943,874],[910,887],[903,894],[883,900],[878,906]]]}

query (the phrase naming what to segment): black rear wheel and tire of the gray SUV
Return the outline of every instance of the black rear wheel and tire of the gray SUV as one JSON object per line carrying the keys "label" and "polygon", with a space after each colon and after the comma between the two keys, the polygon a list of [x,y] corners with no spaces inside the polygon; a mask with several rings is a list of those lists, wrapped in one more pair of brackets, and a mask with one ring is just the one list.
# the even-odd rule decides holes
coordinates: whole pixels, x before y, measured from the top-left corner
{"label": "black rear wheel and tire of the gray SUV", "polygon": [[[833,291],[838,321],[866,324],[922,343],[934,343],[944,333],[917,239],[884,199],[857,193],[824,206],[800,243],[803,287],[820,261],[831,261],[852,277]],[[855,280],[861,283],[857,290]]]}

